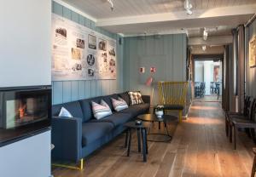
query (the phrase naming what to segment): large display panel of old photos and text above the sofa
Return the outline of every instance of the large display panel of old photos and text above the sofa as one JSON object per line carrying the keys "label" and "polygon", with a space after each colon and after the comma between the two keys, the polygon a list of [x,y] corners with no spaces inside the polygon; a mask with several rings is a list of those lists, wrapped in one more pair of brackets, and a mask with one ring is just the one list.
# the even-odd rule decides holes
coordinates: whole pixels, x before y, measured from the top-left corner
{"label": "large display panel of old photos and text above the sofa", "polygon": [[52,81],[116,79],[116,40],[52,14]]}

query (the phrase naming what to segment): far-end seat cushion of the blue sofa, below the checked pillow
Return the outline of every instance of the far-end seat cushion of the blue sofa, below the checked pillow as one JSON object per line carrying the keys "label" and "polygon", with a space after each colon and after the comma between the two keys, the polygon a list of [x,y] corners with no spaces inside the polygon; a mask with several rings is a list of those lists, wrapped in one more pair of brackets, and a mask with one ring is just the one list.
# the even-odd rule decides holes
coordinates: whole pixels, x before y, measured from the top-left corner
{"label": "far-end seat cushion of the blue sofa, below the checked pillow", "polygon": [[129,106],[128,109],[119,111],[120,113],[130,113],[132,117],[137,117],[140,114],[148,113],[150,105],[148,103],[136,105],[136,106]]}

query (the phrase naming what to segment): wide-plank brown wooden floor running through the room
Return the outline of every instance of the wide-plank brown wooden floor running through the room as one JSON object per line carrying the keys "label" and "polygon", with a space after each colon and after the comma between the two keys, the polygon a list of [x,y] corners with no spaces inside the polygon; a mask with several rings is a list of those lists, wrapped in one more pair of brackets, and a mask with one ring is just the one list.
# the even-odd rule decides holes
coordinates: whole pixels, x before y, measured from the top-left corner
{"label": "wide-plank brown wooden floor running through the room", "polygon": [[233,150],[224,134],[220,103],[195,102],[189,118],[173,132],[171,143],[149,142],[147,163],[137,153],[136,141],[132,142],[131,156],[125,156],[122,134],[88,157],[84,171],[53,168],[53,174],[55,177],[250,176],[253,142],[239,133],[237,150]]}

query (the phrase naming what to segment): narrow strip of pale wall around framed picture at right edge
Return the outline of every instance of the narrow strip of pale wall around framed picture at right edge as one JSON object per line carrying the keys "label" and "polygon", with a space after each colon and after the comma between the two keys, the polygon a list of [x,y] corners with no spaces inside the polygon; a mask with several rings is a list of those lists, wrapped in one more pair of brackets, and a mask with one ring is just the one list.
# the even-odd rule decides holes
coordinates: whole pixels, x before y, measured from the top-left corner
{"label": "narrow strip of pale wall around framed picture at right edge", "polygon": [[249,67],[249,58],[248,58],[248,49],[249,49],[249,41],[253,38],[253,36],[256,35],[256,20],[253,21],[253,23],[248,26],[247,28],[247,45],[246,45],[246,51],[247,51],[247,95],[256,96],[256,68],[250,68]]}

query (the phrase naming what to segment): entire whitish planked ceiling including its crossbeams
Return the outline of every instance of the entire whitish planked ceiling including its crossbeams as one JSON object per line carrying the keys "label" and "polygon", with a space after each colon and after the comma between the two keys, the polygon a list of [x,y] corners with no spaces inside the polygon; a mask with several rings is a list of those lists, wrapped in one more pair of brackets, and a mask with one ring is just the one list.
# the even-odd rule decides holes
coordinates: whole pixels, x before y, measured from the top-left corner
{"label": "entire whitish planked ceiling including its crossbeams", "polygon": [[187,15],[183,0],[62,0],[88,14],[96,26],[124,36],[187,33],[202,37],[230,36],[231,29],[256,13],[256,0],[190,0],[193,14]]}

